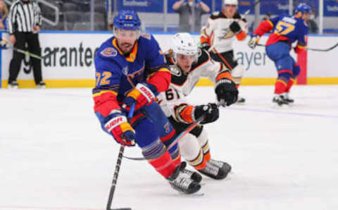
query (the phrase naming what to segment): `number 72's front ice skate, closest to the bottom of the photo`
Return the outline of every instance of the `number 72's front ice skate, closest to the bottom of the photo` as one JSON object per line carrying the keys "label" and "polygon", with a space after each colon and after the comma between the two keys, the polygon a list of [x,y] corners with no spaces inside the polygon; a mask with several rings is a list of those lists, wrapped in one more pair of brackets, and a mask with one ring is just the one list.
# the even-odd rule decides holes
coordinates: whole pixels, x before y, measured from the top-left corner
{"label": "number 72's front ice skate, closest to the bottom of the photo", "polygon": [[186,165],[187,164],[182,164],[181,166],[177,166],[174,173],[170,175],[168,180],[170,186],[173,187],[174,190],[177,190],[182,194],[193,194],[201,189],[201,185],[186,177],[183,173],[183,171],[186,170]]}

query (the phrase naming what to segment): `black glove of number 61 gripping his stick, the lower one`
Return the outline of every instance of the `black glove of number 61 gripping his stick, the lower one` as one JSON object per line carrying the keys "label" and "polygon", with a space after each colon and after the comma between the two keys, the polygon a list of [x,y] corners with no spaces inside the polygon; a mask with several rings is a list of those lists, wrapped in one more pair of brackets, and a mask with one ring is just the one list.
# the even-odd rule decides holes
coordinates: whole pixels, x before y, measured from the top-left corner
{"label": "black glove of number 61 gripping his stick, the lower one", "polygon": [[217,121],[219,117],[219,110],[216,104],[207,104],[194,107],[194,117],[195,119],[204,116],[204,120],[201,121],[201,124],[212,123]]}

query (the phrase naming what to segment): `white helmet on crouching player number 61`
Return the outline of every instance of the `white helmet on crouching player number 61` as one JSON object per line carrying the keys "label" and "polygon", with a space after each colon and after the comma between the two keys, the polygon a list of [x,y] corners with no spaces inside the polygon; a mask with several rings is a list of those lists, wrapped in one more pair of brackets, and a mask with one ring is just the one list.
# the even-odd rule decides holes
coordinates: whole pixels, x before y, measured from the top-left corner
{"label": "white helmet on crouching player number 61", "polygon": [[197,56],[199,48],[189,33],[177,33],[173,37],[173,51],[176,60],[177,54]]}

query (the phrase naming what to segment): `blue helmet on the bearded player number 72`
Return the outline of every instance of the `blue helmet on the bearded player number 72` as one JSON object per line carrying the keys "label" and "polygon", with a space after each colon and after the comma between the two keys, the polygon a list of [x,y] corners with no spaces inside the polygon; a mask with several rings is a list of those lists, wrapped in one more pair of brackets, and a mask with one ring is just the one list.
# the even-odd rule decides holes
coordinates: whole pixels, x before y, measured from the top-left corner
{"label": "blue helmet on the bearded player number 72", "polygon": [[120,30],[139,30],[141,20],[135,11],[119,11],[114,18],[114,28]]}

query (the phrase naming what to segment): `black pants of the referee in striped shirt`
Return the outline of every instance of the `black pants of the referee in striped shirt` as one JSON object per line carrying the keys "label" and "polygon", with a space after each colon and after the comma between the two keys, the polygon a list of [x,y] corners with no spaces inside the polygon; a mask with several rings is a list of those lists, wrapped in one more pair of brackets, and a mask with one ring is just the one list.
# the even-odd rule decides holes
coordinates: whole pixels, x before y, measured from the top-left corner
{"label": "black pants of the referee in striped shirt", "polygon": [[[15,32],[16,42],[14,47],[18,49],[25,49],[25,44],[28,44],[28,51],[32,54],[37,54],[41,56],[41,48],[39,43],[39,35],[33,34],[32,32]],[[21,62],[25,58],[25,55],[19,53],[17,51],[13,51],[13,58],[11,63],[9,64],[9,78],[8,83],[13,82],[18,78],[18,74],[21,68]],[[39,84],[42,81],[42,73],[41,73],[41,61],[37,58],[30,57],[30,62],[33,67],[33,75],[35,84]]]}

